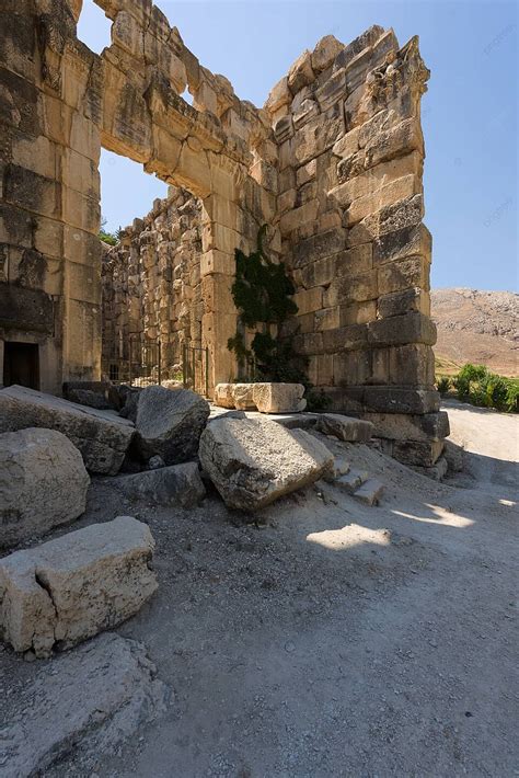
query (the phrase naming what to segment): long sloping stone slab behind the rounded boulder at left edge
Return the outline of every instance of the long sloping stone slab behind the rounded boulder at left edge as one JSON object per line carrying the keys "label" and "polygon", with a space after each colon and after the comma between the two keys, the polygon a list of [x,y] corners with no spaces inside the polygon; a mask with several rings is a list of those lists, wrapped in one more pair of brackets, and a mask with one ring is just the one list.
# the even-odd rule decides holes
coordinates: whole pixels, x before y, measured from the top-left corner
{"label": "long sloping stone slab behind the rounded boulder at left edge", "polygon": [[91,472],[115,476],[134,436],[131,422],[26,387],[0,390],[0,433],[27,427],[57,430],[82,454]]}

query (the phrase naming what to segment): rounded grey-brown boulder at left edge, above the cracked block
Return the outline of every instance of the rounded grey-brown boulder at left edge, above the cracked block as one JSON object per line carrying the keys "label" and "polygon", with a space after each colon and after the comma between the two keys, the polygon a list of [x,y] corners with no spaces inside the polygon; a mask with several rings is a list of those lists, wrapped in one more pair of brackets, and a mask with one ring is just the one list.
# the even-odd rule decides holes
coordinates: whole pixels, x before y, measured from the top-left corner
{"label": "rounded grey-brown boulder at left edge, above the cracked block", "polygon": [[78,518],[89,483],[80,451],[60,432],[30,427],[0,434],[0,547]]}

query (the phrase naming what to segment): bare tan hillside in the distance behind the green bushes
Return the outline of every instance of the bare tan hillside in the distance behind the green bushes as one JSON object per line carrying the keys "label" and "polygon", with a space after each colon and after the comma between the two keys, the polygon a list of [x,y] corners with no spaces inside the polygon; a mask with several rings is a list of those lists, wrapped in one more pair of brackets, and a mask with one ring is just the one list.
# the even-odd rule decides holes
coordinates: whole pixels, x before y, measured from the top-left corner
{"label": "bare tan hillside in the distance behind the green bushes", "polygon": [[438,373],[454,373],[472,362],[505,376],[519,375],[519,295],[435,289],[430,300]]}

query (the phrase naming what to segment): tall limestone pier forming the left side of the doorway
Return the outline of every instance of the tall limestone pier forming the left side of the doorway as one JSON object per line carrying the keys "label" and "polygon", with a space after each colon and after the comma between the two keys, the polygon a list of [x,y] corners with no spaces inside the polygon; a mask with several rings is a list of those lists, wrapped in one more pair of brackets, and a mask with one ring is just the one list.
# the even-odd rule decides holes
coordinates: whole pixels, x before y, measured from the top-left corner
{"label": "tall limestone pier forming the left side of the doorway", "polygon": [[66,3],[2,3],[0,384],[3,344],[30,343],[53,392],[101,356],[95,55],[74,35]]}

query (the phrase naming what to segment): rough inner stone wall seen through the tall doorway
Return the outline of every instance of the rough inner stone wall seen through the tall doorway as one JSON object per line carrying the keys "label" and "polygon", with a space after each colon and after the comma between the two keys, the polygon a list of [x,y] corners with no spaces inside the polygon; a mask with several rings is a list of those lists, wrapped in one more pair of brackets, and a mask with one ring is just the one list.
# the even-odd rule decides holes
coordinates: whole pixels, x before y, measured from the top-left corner
{"label": "rough inner stone wall seen through the tall doorway", "polygon": [[[103,261],[103,373],[129,358],[130,336],[161,341],[163,377],[185,345],[203,345],[201,202],[170,187]],[[136,337],[140,341],[140,337]]]}

